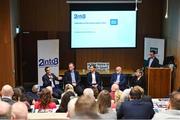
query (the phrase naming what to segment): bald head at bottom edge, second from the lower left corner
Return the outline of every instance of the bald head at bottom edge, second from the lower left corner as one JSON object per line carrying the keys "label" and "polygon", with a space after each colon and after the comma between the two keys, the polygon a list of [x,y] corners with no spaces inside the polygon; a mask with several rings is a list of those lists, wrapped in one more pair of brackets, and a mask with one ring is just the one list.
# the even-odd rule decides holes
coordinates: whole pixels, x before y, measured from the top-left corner
{"label": "bald head at bottom edge, second from the lower left corner", "polygon": [[16,102],[11,108],[11,120],[27,120],[28,108],[23,102]]}

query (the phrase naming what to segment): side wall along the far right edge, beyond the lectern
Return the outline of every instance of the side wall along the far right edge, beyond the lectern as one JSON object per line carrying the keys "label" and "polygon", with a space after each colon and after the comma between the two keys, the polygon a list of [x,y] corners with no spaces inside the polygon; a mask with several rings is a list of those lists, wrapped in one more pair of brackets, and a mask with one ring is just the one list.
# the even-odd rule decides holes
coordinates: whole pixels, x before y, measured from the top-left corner
{"label": "side wall along the far right edge, beyond the lectern", "polygon": [[174,56],[177,68],[174,69],[174,89],[180,87],[180,1],[169,1],[169,17],[164,19],[164,37],[167,40],[166,53]]}

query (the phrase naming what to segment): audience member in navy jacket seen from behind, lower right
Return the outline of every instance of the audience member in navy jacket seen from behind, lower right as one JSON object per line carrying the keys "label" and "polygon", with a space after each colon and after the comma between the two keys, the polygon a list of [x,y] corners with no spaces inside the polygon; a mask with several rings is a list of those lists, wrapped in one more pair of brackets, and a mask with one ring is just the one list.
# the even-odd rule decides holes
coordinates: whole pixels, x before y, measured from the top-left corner
{"label": "audience member in navy jacket seen from behind, lower right", "polygon": [[150,102],[142,101],[144,90],[134,86],[130,91],[130,101],[123,102],[117,110],[118,119],[151,119],[154,115]]}

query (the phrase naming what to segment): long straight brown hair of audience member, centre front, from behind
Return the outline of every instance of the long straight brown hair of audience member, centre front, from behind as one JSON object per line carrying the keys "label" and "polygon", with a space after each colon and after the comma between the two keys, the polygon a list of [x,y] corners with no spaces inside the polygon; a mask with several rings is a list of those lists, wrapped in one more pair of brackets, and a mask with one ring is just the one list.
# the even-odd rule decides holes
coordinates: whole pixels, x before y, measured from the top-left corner
{"label": "long straight brown hair of audience member, centre front, from behind", "polygon": [[98,95],[97,106],[99,113],[104,114],[108,112],[111,107],[111,96],[107,90],[103,90]]}

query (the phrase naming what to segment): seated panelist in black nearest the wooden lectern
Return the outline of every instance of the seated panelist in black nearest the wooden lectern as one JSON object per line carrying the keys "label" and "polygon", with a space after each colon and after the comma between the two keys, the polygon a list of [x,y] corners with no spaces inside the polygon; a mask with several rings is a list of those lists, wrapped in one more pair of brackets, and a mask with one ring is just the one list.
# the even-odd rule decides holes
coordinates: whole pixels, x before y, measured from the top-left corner
{"label": "seated panelist in black nearest the wooden lectern", "polygon": [[144,83],[145,83],[145,78],[143,76],[143,71],[141,69],[137,69],[130,81],[130,86],[134,87],[138,85],[142,88],[145,88]]}

